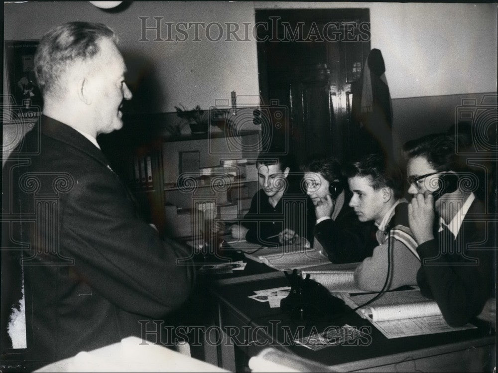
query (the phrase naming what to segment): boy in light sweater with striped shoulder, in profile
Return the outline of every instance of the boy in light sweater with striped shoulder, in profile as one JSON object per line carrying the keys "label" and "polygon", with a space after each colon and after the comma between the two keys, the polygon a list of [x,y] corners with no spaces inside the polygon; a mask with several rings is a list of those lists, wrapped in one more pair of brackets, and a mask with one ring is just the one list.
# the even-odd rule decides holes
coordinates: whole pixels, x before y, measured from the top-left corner
{"label": "boy in light sweater with striped shoulder, in profile", "polygon": [[[362,222],[374,221],[378,245],[355,271],[362,290],[382,290],[388,264],[389,279],[385,290],[417,284],[420,259],[417,243],[408,228],[408,204],[401,198],[399,169],[388,168],[380,155],[368,155],[346,169],[353,197],[349,205]],[[389,255],[389,262],[388,262]]]}

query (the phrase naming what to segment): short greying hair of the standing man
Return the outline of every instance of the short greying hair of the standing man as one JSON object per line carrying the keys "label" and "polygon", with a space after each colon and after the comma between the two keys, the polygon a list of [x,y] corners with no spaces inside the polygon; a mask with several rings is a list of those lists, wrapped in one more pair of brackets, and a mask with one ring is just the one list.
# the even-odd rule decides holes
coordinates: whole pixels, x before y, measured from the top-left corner
{"label": "short greying hair of the standing man", "polygon": [[108,38],[117,43],[114,31],[102,23],[68,22],[48,31],[34,56],[34,72],[42,93],[54,88],[68,67],[99,53],[98,42]]}

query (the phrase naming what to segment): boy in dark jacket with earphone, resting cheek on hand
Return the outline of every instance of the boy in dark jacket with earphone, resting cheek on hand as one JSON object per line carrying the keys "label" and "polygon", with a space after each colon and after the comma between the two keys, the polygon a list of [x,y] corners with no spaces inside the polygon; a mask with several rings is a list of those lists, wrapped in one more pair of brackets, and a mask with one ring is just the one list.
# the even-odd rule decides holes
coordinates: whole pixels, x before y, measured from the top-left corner
{"label": "boy in dark jacket with earphone, resting cheek on hand", "polygon": [[348,206],[348,185],[336,158],[316,158],[301,167],[304,186],[315,206],[313,248],[323,248],[333,263],[362,261],[377,246],[373,224],[360,222]]}

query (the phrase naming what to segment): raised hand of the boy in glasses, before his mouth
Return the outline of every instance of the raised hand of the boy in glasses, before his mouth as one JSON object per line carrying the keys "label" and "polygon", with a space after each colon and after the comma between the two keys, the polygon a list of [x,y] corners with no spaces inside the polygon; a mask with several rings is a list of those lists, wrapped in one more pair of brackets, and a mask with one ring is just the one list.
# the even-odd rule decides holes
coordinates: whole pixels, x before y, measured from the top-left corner
{"label": "raised hand of the boy in glasses, before his mouth", "polygon": [[425,191],[415,194],[408,204],[408,223],[418,245],[434,240],[432,226],[434,222],[434,198]]}

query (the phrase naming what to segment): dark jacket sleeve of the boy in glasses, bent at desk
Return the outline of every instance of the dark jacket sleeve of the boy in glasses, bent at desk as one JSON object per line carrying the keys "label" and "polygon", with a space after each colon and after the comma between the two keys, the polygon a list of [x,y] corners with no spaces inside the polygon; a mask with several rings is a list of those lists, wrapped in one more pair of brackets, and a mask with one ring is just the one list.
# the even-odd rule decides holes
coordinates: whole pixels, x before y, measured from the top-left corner
{"label": "dark jacket sleeve of the boy in glasses, bent at desk", "polygon": [[[446,322],[462,326],[477,316],[491,293],[491,250],[467,251],[468,256],[479,259],[479,265],[445,264],[446,254],[440,255],[437,238],[423,243],[417,251],[422,261],[417,276],[420,289],[423,293],[429,290],[427,295],[436,300]],[[430,259],[431,264],[425,265],[424,259]]]}

